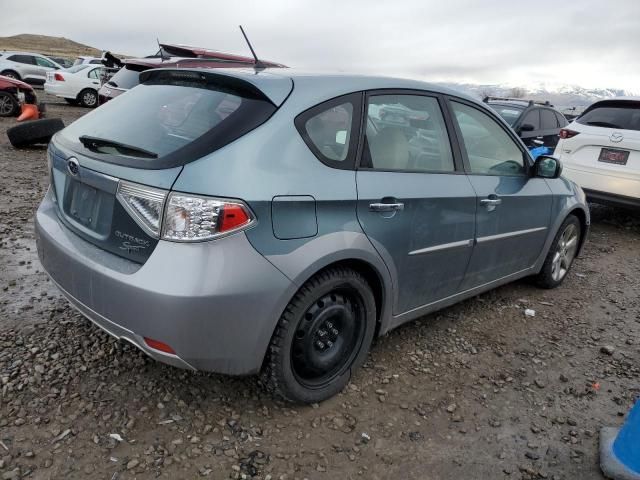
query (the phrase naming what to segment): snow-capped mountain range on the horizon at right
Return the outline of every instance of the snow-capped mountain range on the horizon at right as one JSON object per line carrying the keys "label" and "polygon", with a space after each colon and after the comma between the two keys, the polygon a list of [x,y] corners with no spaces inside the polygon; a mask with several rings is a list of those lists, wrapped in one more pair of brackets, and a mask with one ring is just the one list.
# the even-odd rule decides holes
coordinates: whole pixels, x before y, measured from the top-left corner
{"label": "snow-capped mountain range on the horizon at right", "polygon": [[610,97],[638,96],[638,93],[619,88],[585,88],[578,85],[534,84],[527,86],[494,84],[476,85],[470,83],[441,83],[476,98],[485,96],[522,97],[532,100],[548,100],[558,108],[586,107],[597,100]]}

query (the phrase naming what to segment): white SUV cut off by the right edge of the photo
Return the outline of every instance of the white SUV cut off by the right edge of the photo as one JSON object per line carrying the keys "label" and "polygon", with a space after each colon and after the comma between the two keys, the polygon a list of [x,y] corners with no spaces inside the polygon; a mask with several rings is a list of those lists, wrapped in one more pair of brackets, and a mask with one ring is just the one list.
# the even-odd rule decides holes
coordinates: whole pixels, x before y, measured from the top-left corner
{"label": "white SUV cut off by the right edge of the photo", "polygon": [[555,155],[591,200],[640,207],[640,97],[591,105],[560,130]]}

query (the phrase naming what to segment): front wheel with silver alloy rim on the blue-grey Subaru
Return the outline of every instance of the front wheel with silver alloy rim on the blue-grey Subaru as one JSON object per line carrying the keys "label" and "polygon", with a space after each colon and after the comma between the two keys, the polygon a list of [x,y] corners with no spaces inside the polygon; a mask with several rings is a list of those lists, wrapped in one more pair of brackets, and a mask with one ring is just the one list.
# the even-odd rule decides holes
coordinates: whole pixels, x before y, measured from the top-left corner
{"label": "front wheel with silver alloy rim on the blue-grey Subaru", "polygon": [[569,215],[558,229],[542,270],[535,281],[542,288],[556,288],[567,277],[580,247],[582,226],[575,215]]}

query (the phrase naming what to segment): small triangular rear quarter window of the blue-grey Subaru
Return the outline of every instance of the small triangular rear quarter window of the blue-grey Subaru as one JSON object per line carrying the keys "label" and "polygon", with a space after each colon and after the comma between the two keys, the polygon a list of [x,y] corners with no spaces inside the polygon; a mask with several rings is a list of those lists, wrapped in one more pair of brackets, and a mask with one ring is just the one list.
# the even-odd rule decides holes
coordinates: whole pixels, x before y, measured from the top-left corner
{"label": "small triangular rear quarter window of the blue-grey Subaru", "polygon": [[295,125],[316,157],[334,168],[353,168],[361,94],[334,98],[301,113]]}

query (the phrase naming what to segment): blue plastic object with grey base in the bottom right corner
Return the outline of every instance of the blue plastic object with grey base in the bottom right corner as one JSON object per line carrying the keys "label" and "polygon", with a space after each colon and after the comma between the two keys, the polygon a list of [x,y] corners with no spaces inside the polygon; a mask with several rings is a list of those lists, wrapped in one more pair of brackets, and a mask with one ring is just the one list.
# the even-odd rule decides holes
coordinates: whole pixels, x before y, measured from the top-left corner
{"label": "blue plastic object with grey base in the bottom right corner", "polygon": [[601,430],[600,466],[608,478],[640,480],[640,400],[622,428]]}

